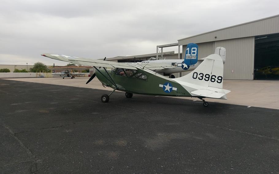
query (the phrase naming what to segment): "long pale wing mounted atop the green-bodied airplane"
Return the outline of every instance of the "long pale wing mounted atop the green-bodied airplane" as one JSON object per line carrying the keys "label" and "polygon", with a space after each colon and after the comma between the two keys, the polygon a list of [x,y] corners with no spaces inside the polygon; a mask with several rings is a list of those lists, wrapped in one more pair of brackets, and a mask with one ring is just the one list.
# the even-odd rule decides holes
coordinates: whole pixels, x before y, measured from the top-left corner
{"label": "long pale wing mounted atop the green-bodied airplane", "polygon": [[110,62],[104,60],[96,60],[96,59],[85,59],[67,55],[55,55],[55,54],[42,54],[42,56],[61,60],[65,62],[71,62],[78,65],[85,65],[85,66],[97,66],[97,67],[107,67],[107,68],[125,68],[125,69],[132,69],[137,70],[139,69],[149,69],[149,70],[158,70],[158,69],[166,69],[166,68],[175,68],[176,66],[159,63],[159,64],[132,64],[132,63],[119,63],[119,62]]}

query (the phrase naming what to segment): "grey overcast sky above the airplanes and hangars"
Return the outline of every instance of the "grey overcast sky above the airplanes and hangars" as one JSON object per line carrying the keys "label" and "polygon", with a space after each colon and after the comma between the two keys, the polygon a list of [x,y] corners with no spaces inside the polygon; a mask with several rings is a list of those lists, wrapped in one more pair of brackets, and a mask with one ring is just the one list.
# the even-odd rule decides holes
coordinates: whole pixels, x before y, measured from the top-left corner
{"label": "grey overcast sky above the airplanes and hangars", "polygon": [[156,45],[277,15],[278,7],[278,0],[0,0],[0,64],[67,64],[42,53],[156,53]]}

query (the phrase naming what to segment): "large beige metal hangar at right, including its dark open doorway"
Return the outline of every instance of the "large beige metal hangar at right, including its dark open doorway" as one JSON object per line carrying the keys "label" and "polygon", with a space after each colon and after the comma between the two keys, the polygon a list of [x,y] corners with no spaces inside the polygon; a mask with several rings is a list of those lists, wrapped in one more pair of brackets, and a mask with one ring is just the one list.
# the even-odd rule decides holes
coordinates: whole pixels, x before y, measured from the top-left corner
{"label": "large beige metal hangar at right, including its dark open doorway", "polygon": [[279,67],[279,15],[179,39],[182,55],[188,43],[198,44],[199,58],[225,47],[224,79],[257,79],[258,69]]}

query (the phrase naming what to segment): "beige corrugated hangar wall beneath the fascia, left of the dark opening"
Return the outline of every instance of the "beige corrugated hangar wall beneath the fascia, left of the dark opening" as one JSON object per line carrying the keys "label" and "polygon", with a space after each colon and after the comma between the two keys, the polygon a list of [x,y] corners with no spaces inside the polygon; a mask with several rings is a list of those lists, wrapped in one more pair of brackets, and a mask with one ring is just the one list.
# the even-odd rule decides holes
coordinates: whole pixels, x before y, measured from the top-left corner
{"label": "beige corrugated hangar wall beneath the fascia, left of the dark opening", "polygon": [[[226,48],[226,63],[224,64],[224,79],[253,80],[254,76],[254,37],[220,40],[197,44],[199,59],[214,53],[216,47]],[[182,46],[185,55],[186,45]],[[189,72],[182,73],[182,76]],[[178,77],[178,76],[177,76]]]}

